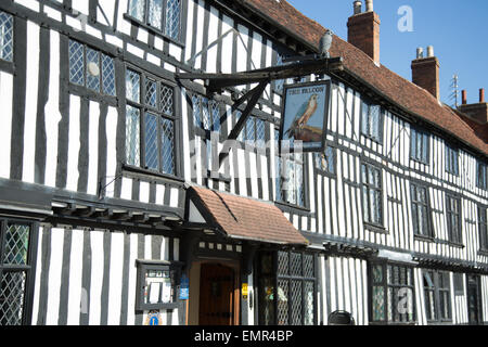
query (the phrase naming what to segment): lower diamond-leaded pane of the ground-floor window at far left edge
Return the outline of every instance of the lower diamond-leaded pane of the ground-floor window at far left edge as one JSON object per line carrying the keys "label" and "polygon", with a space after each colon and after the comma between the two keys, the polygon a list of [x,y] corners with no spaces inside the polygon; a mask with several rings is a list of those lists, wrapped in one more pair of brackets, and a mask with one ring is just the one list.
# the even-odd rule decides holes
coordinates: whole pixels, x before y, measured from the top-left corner
{"label": "lower diamond-leaded pane of the ground-floor window at far left edge", "polygon": [[0,326],[23,323],[26,277],[24,271],[4,270],[0,282]]}

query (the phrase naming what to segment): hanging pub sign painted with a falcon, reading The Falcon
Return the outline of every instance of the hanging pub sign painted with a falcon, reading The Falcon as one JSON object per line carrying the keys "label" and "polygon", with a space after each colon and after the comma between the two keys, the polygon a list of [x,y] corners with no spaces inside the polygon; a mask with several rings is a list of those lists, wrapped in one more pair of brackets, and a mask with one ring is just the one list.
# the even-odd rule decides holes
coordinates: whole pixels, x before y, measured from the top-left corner
{"label": "hanging pub sign painted with a falcon, reading The Falcon", "polygon": [[330,81],[284,88],[281,140],[290,149],[321,152],[325,143]]}

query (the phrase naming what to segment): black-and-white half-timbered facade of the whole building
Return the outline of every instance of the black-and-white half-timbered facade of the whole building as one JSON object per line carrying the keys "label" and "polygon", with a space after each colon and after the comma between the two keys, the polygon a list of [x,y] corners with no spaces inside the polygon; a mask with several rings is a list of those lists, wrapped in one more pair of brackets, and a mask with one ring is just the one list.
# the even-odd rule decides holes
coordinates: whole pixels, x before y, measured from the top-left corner
{"label": "black-and-white half-timbered facade of the whole building", "polygon": [[[280,7],[0,2],[0,325],[488,322],[488,152]],[[281,157],[283,86],[318,80],[328,149]],[[258,203],[296,234],[239,229]]]}

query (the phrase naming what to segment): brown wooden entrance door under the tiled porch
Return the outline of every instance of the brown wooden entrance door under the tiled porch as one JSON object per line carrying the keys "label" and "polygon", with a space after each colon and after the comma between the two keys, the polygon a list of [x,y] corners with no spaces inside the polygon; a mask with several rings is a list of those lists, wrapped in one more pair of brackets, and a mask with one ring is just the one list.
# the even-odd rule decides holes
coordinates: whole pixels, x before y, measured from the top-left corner
{"label": "brown wooden entrance door under the tiled porch", "polygon": [[200,325],[234,324],[234,270],[219,264],[202,264]]}

